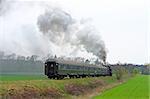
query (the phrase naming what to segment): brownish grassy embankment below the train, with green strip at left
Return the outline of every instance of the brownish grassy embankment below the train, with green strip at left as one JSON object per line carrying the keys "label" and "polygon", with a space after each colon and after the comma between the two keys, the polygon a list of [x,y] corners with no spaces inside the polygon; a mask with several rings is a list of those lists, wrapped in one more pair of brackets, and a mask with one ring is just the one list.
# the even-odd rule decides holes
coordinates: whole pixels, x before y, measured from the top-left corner
{"label": "brownish grassy embankment below the train, with green strip at left", "polygon": [[73,98],[117,82],[115,77],[49,80],[46,76],[0,77],[0,98]]}

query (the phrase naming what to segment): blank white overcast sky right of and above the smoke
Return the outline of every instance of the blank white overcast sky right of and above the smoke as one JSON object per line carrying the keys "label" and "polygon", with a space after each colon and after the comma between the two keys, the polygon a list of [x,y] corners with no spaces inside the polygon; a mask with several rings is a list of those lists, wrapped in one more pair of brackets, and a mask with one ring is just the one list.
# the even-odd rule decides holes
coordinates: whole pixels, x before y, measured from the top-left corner
{"label": "blank white overcast sky right of and above the smoke", "polygon": [[[40,0],[24,1],[38,2]],[[91,21],[105,42],[108,62],[139,64],[150,62],[150,52],[148,53],[150,50],[150,25],[148,25],[150,5],[148,0],[44,1],[46,4],[65,10],[77,20]]]}

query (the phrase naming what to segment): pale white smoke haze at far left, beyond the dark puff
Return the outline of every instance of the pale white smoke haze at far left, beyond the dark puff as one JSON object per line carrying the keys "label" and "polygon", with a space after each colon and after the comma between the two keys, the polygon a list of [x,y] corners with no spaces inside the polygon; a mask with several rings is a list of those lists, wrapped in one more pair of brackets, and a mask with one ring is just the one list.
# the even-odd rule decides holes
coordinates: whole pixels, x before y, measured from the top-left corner
{"label": "pale white smoke haze at far left, beyond the dark puff", "polygon": [[46,55],[49,52],[45,47],[49,46],[46,44],[48,41],[36,25],[38,15],[45,8],[38,2],[17,0],[2,0],[0,5],[0,51],[24,56]]}

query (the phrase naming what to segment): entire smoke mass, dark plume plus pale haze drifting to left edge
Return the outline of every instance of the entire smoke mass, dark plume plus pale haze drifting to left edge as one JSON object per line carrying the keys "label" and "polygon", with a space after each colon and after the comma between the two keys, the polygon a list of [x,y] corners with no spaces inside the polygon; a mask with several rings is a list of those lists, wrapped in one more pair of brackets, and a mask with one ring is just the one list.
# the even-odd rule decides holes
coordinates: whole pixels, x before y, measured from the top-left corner
{"label": "entire smoke mass, dark plume plus pale haze drifting to left edge", "polygon": [[77,21],[45,4],[0,0],[0,51],[24,56],[106,58],[104,42],[87,20]]}

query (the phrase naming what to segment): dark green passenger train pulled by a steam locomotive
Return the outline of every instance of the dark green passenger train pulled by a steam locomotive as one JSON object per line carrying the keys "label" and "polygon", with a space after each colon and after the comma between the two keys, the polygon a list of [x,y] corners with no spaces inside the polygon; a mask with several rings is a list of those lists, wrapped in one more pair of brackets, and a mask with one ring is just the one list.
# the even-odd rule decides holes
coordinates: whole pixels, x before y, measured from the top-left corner
{"label": "dark green passenger train pulled by a steam locomotive", "polygon": [[48,59],[45,62],[45,75],[50,79],[112,76],[112,70],[109,66]]}

